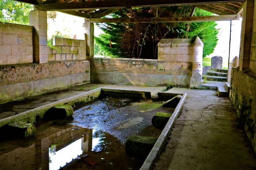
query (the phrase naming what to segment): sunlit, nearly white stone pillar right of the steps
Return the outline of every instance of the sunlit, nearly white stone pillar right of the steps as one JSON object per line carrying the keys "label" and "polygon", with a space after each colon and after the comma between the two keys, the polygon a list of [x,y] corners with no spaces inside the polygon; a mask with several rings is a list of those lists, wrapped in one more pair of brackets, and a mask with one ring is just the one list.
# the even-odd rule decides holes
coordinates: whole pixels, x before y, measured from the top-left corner
{"label": "sunlit, nearly white stone pillar right of the steps", "polygon": [[231,69],[236,67],[236,56],[240,52],[241,20],[231,20],[228,57],[228,82],[230,83]]}

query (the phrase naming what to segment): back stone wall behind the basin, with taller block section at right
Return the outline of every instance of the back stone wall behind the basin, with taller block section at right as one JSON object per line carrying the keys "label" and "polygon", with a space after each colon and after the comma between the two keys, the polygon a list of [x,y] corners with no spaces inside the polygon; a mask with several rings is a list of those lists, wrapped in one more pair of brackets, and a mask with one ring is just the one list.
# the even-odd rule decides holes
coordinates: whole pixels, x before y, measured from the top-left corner
{"label": "back stone wall behind the basin, with taller block section at right", "polygon": [[158,59],[92,57],[90,80],[94,83],[190,87],[193,68],[196,65],[202,67],[202,60],[196,64],[194,56],[201,55],[202,58],[203,49],[200,47],[195,52],[194,42],[193,39],[161,40]]}

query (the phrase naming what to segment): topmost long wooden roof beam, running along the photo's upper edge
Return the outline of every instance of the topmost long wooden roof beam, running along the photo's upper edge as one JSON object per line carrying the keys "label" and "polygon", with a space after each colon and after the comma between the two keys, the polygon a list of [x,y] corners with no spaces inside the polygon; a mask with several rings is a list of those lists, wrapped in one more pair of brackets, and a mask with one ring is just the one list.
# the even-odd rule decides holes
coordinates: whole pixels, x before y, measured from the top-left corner
{"label": "topmost long wooden roof beam, running along the photo's upper edge", "polygon": [[175,6],[175,5],[197,5],[207,3],[229,3],[244,2],[245,0],[112,0],[110,1],[90,1],[75,3],[53,3],[35,5],[40,10],[82,10],[82,9],[110,9],[131,7],[152,7],[152,6]]}

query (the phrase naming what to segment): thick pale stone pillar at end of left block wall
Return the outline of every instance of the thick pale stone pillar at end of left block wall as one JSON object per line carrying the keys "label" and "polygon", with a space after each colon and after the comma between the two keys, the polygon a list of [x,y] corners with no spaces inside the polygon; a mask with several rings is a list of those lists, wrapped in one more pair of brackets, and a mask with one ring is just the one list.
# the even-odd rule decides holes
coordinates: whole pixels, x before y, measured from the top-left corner
{"label": "thick pale stone pillar at end of left block wall", "polygon": [[47,48],[47,12],[32,10],[29,13],[29,25],[34,26],[34,61],[35,63],[48,62]]}

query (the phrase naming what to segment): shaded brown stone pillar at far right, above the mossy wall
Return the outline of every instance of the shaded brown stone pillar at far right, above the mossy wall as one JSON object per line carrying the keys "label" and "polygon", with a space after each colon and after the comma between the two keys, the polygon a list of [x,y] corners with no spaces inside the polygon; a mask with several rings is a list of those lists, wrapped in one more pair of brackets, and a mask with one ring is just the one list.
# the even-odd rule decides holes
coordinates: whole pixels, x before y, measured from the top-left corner
{"label": "shaded brown stone pillar at far right, above the mossy wall", "polygon": [[241,49],[239,56],[239,66],[241,71],[249,68],[253,14],[254,0],[246,0],[243,6],[243,22],[240,44]]}

